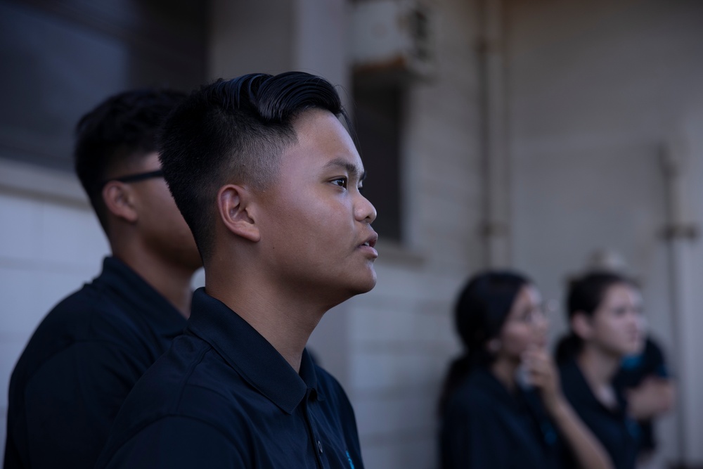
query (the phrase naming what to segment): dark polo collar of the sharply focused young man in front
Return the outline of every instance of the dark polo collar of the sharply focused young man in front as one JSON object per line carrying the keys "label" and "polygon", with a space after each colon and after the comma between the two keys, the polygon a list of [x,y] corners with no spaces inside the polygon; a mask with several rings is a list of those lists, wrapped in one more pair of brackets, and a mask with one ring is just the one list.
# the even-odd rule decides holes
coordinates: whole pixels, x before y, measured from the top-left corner
{"label": "dark polo collar of the sharply focused young man in front", "polygon": [[295,410],[308,390],[323,400],[307,350],[298,374],[269,341],[226,304],[207,295],[205,288],[193,293],[188,330],[208,342],[247,383],[286,413]]}

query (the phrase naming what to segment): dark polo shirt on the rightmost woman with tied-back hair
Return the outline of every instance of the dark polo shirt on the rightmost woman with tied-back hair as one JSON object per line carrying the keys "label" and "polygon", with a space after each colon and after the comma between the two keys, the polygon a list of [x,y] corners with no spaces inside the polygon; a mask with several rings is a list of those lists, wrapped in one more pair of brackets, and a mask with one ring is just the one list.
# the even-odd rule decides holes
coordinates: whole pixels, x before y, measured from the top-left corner
{"label": "dark polo shirt on the rightmost woman with tied-back hair", "polygon": [[[637,424],[627,416],[626,401],[616,390],[617,409],[608,409],[596,399],[576,360],[559,368],[562,390],[574,411],[591,429],[610,455],[616,469],[634,469],[637,459]],[[575,467],[575,466],[574,466]]]}

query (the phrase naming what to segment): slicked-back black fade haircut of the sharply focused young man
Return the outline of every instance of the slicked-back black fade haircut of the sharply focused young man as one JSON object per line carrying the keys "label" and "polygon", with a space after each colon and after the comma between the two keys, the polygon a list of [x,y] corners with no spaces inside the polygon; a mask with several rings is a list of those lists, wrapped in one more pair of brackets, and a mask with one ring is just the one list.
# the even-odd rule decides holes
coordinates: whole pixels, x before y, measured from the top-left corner
{"label": "slicked-back black fade haircut of the sharply focused young man", "polygon": [[264,190],[272,184],[280,155],[297,142],[295,118],[312,109],[342,117],[352,133],[335,87],[304,72],[219,79],[193,91],[169,116],[160,139],[161,165],[204,260],[214,248],[219,188]]}

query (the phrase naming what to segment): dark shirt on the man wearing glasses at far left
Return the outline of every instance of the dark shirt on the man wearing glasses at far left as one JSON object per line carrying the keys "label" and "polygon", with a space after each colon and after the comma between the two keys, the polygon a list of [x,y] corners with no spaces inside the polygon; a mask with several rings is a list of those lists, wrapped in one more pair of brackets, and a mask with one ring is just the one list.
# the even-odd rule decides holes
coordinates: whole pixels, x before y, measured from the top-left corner
{"label": "dark shirt on the man wearing glasses at far left", "polygon": [[186,326],[172,304],[108,257],[54,307],[10,381],[5,469],[92,468],[122,401]]}

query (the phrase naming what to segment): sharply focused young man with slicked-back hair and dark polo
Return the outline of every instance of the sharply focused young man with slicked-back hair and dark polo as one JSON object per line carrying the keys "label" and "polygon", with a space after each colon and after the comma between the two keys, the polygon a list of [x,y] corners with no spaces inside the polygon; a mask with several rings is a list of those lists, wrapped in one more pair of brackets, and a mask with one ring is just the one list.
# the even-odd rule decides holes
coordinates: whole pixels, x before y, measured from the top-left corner
{"label": "sharply focused young man with slicked-back hair and dark polo", "polygon": [[96,467],[363,467],[352,406],[305,351],[328,309],[376,281],[344,116],[328,82],[289,72],[216,82],[169,117],[162,165],[205,288]]}

